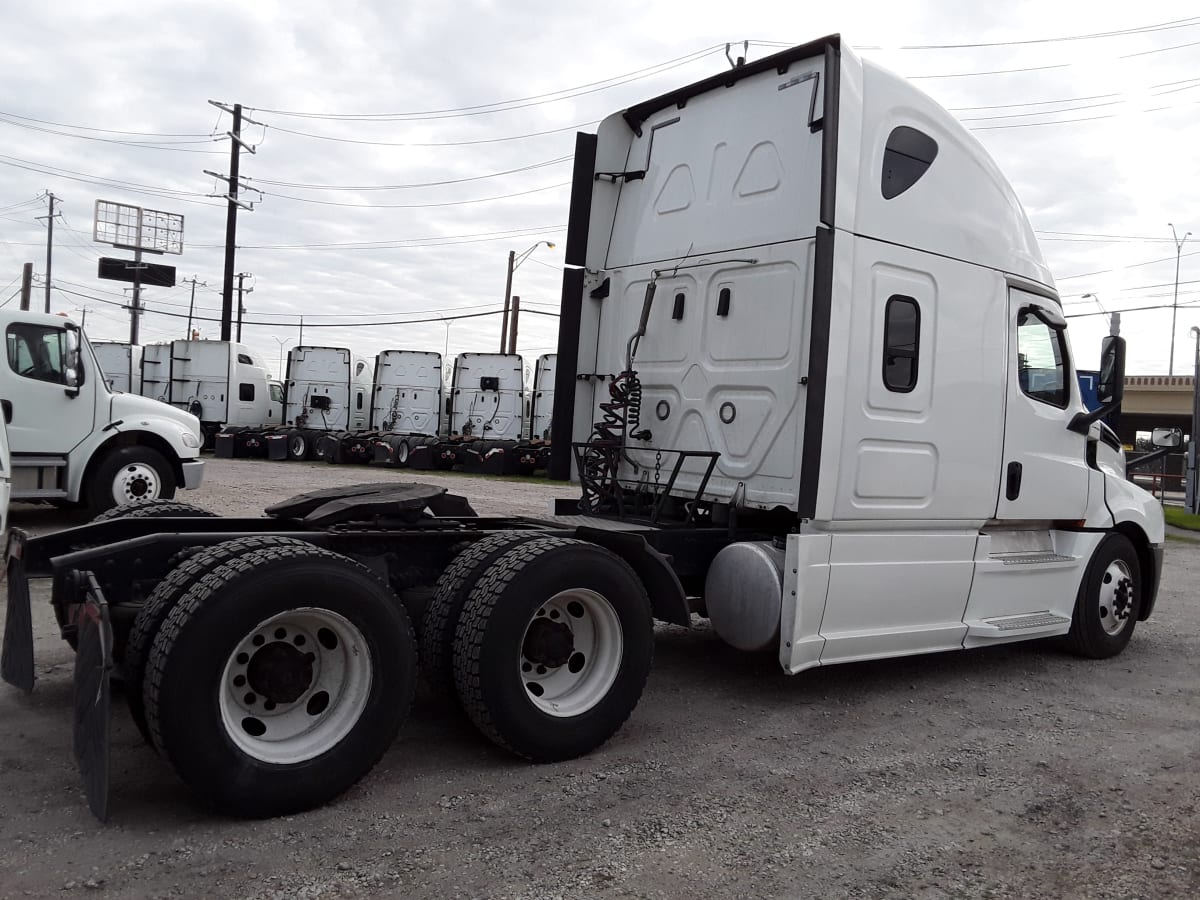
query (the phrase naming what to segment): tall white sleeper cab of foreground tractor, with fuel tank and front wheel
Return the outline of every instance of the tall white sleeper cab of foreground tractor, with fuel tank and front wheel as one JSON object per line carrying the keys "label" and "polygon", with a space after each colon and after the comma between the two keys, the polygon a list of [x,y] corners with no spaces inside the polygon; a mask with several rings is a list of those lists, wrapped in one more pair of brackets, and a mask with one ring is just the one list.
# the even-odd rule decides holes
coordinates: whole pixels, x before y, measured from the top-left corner
{"label": "tall white sleeper cab of foreground tractor, with fuel tank and front wheel", "polygon": [[1162,510],[1084,408],[1021,204],[947,110],[827,38],[607,118],[576,173],[554,424],[590,438],[572,458],[556,436],[556,470],[594,512],[678,463],[673,506],[761,523],[702,566],[722,638],[788,672],[1124,646]]}

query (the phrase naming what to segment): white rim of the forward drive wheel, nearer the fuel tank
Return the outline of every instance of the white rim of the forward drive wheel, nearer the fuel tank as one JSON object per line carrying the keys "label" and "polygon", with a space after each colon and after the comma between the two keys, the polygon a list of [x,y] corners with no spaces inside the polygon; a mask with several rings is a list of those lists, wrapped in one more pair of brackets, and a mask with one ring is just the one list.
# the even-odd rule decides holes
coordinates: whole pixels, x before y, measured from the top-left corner
{"label": "white rim of the forward drive wheel, nearer the fuel tank", "polygon": [[604,595],[584,588],[550,598],[521,640],[517,671],[529,702],[570,718],[595,707],[617,680],[625,640]]}

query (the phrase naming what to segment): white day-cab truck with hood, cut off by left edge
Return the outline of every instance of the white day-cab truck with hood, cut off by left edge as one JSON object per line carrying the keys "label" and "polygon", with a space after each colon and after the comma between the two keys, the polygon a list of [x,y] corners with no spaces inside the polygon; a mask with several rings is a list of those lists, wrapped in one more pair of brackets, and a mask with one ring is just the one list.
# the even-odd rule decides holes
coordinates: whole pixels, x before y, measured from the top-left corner
{"label": "white day-cab truck with hood, cut off by left edge", "polygon": [[199,486],[196,416],[110,390],[70,319],[2,310],[0,328],[12,499],[84,503],[98,512]]}

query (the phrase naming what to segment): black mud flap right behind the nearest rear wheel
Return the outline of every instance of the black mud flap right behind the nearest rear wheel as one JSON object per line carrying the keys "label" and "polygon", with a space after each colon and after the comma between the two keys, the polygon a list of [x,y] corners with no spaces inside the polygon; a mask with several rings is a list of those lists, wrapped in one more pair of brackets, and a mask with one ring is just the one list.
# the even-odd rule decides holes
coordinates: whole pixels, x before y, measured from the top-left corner
{"label": "black mud flap right behind the nearest rear wheel", "polygon": [[113,625],[108,602],[91,572],[82,572],[84,601],[77,607],[79,649],[74,667],[74,755],[88,806],[108,821],[108,736],[113,674]]}

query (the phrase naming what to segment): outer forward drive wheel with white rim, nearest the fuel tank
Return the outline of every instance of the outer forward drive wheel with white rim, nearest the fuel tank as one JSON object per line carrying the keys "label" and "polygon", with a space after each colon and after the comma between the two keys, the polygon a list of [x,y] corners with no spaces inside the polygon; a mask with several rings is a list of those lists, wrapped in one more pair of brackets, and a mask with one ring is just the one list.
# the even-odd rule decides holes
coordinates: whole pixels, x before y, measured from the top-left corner
{"label": "outer forward drive wheel with white rim, nearest the fuel tank", "polygon": [[[588,622],[607,623],[593,624],[592,643],[582,630]],[[570,641],[535,640],[539,623],[559,636],[566,628]],[[563,653],[559,661],[541,655],[548,647]],[[497,558],[470,592],[455,632],[455,688],[491,740],[556,762],[594,750],[620,728],[653,656],[650,601],[629,564],[594,544],[538,538]],[[530,658],[546,665],[535,668]],[[559,678],[565,690],[556,686]]]}

